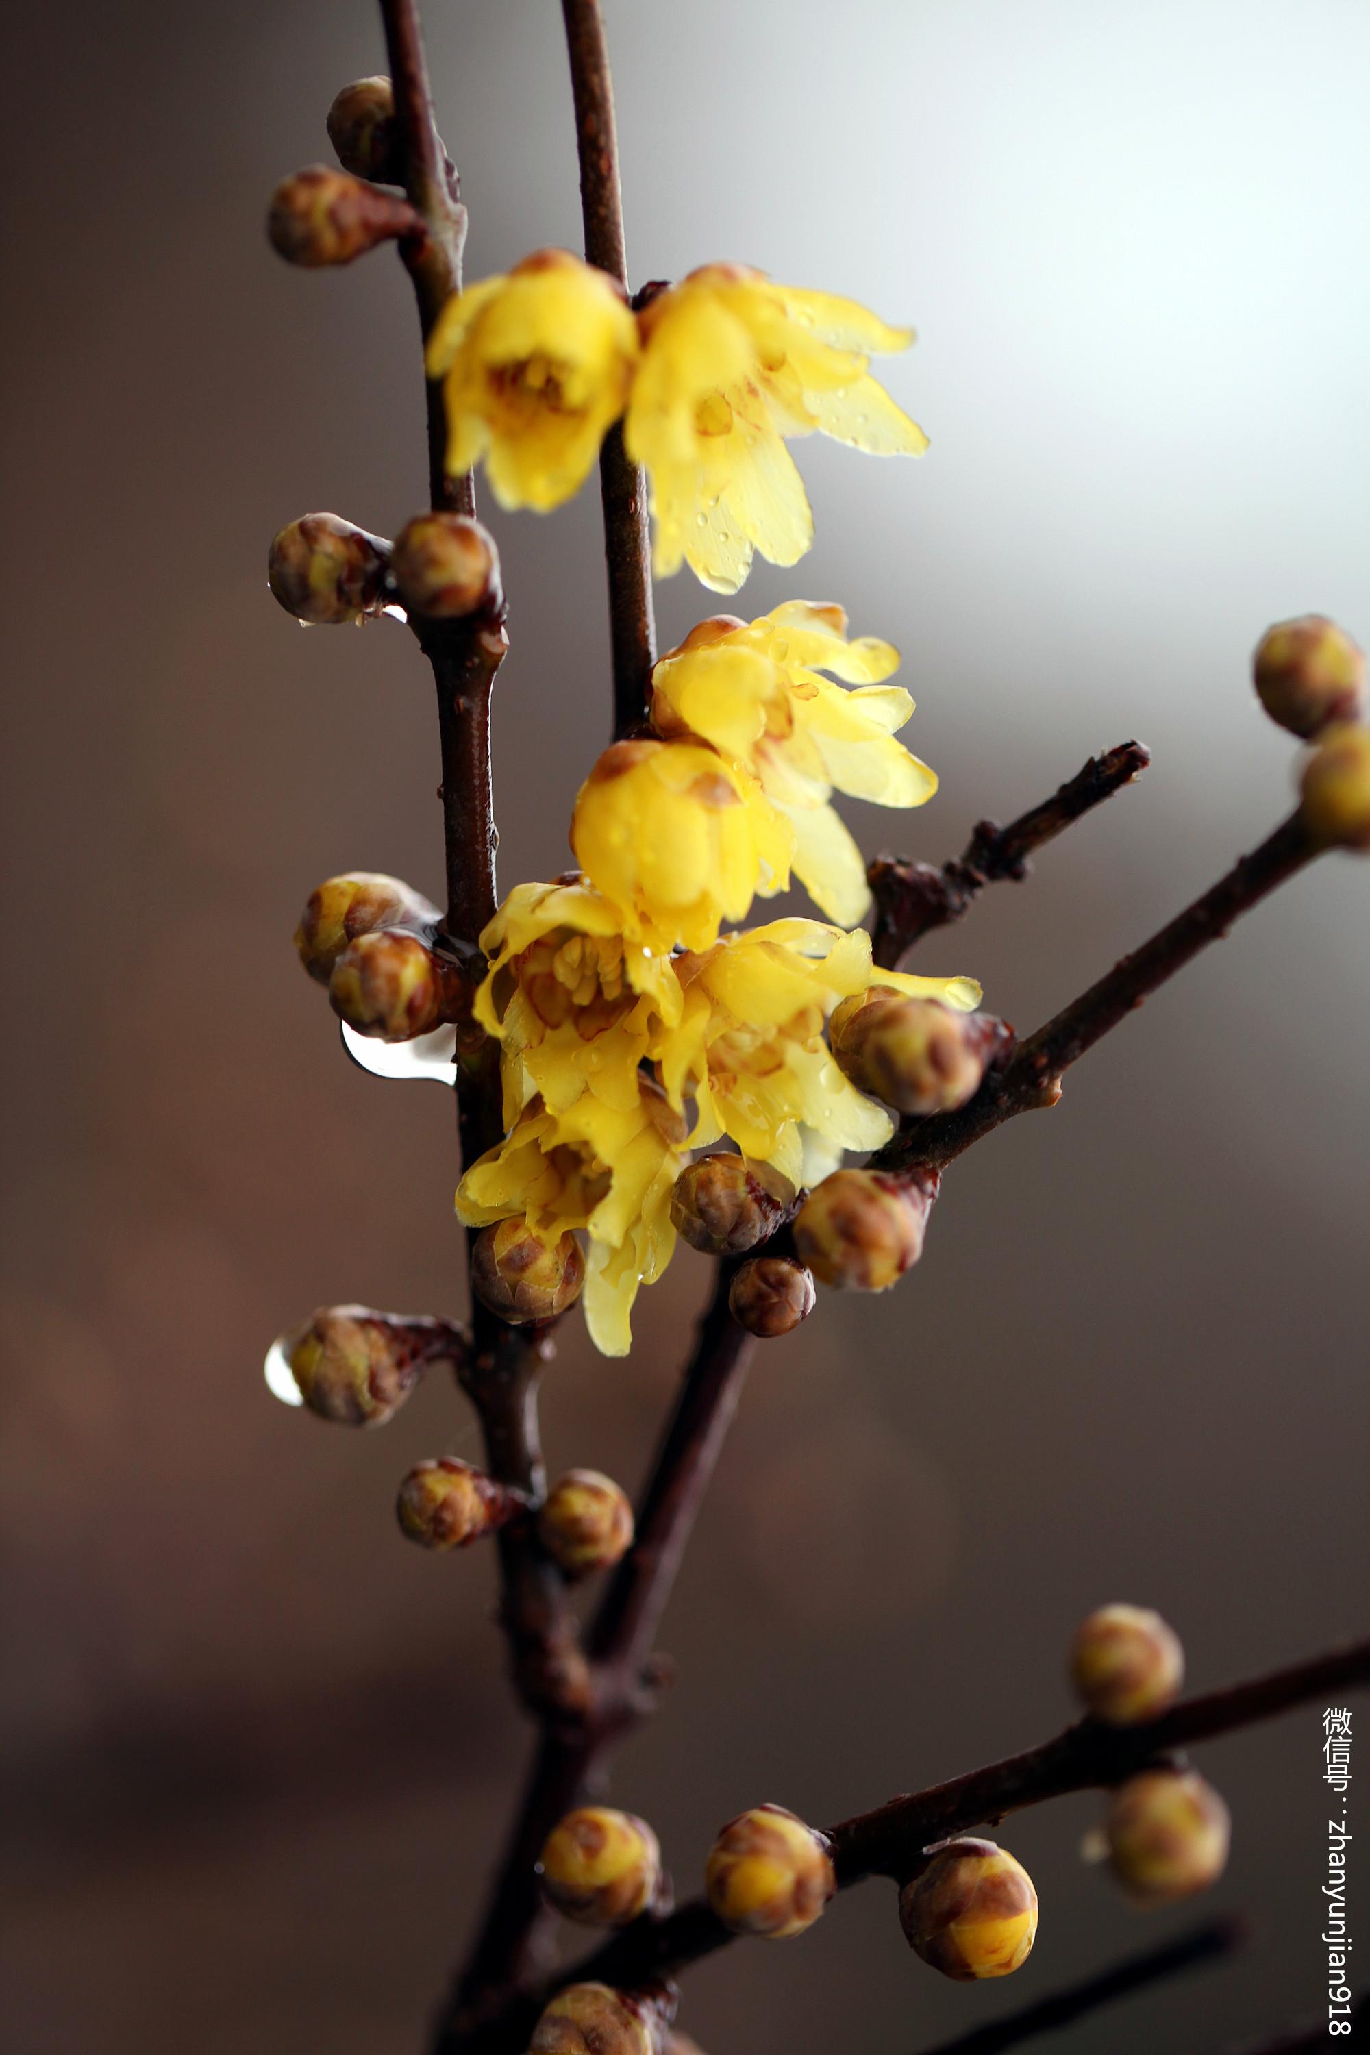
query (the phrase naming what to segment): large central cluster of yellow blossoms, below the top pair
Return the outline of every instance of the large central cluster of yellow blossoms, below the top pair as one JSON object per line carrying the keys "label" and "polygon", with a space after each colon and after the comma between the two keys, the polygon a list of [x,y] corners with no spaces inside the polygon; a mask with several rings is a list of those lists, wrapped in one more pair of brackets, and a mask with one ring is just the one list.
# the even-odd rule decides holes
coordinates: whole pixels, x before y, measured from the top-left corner
{"label": "large central cluster of yellow blossoms, below the top pair", "polygon": [[828,1046],[836,1005],[871,982],[957,1011],[980,1001],[972,978],[877,972],[861,927],[723,933],[791,871],[844,923],[865,912],[834,787],[889,806],[935,787],[891,736],[912,711],[881,682],[896,662],[887,643],[846,641],[834,606],[702,623],[653,670],[655,734],[612,744],[585,779],[579,869],[518,886],[481,937],[474,1015],[499,1042],[507,1132],[456,1208],[470,1227],[522,1219],[546,1247],[583,1231],[585,1319],[606,1354],[629,1350],[637,1291],[672,1256],[690,1149],[727,1138],[799,1190],[889,1138],[889,1114]]}

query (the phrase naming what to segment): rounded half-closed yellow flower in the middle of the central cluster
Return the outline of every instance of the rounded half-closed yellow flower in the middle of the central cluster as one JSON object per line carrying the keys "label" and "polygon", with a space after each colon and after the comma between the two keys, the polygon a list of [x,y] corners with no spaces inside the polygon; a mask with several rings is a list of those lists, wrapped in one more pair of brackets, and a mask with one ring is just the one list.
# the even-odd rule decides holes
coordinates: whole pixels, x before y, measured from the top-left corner
{"label": "rounded half-closed yellow flower in the middle of the central cluster", "polygon": [[741,764],[702,742],[614,742],[571,816],[575,861],[649,949],[707,949],[789,884],[793,832]]}

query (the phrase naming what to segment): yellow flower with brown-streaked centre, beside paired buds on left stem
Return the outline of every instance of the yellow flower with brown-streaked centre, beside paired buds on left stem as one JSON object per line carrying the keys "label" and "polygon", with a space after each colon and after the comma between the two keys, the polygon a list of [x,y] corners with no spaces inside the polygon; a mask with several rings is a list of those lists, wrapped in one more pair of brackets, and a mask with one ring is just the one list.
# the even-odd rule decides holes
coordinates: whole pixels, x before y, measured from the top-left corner
{"label": "yellow flower with brown-streaked centre, beside paired buds on left stem", "polygon": [[481,935],[491,968],[474,1015],[503,1042],[505,1126],[534,1093],[553,1114],[581,1091],[637,1108],[637,1067],[680,1019],[682,997],[672,958],[651,956],[622,921],[567,871],[550,886],[516,886]]}

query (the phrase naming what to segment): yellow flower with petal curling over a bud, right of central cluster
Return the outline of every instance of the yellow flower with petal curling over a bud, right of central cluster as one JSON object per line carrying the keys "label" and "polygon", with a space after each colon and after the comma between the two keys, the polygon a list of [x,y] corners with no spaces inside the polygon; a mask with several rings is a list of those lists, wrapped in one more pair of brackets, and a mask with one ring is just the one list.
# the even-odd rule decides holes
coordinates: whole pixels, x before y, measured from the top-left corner
{"label": "yellow flower with petal curling over a bud, right of central cluster", "polygon": [[799,1188],[824,1178],[844,1149],[879,1149],[893,1122],[842,1075],[824,1040],[840,999],[871,980],[957,1011],[980,1005],[974,978],[875,970],[865,929],[772,921],[676,958],[684,1015],[665,1036],[659,1075],[672,1106],[694,1099],[690,1147],[729,1134]]}

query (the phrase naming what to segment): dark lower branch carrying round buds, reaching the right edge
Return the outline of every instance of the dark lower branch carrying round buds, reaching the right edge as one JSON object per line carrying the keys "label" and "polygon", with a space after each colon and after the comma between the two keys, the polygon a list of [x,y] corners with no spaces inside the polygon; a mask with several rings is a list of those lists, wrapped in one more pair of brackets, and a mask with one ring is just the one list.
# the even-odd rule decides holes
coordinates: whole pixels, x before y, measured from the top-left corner
{"label": "dark lower branch carrying round buds, reaching the right edge", "polygon": [[[945,1835],[965,1833],[969,1827],[998,1821],[1006,1813],[1023,1810],[1023,1806],[1062,1798],[1066,1792],[1117,1784],[1173,1749],[1212,1741],[1216,1734],[1251,1726],[1255,1720],[1271,1720],[1294,1706],[1329,1699],[1366,1683],[1370,1683],[1370,1640],[1333,1648],[1308,1662],[1210,1691],[1206,1697],[1185,1699],[1165,1718],[1144,1726],[1103,1726],[1099,1720],[1080,1720],[1064,1734],[1037,1749],[1027,1749],[1023,1755],[1011,1755],[986,1769],[972,1769],[967,1776],[935,1784],[912,1796],[891,1798],[889,1804],[877,1806],[873,1813],[861,1813],[830,1827],[828,1839],[838,1889],[867,1876],[898,1880],[908,1874],[930,1841]],[[651,1977],[672,1977],[690,1963],[725,1948],[733,1938],[702,1899],[692,1899],[665,1919],[637,1919],[594,1954],[575,1963],[557,1987],[596,1979],[626,1989]],[[472,2051],[479,2047],[481,2055],[513,2055],[526,2047],[530,2022],[536,2020],[548,1995],[550,1987],[526,2004],[513,2004],[499,2022],[499,2034],[472,2043]]]}

